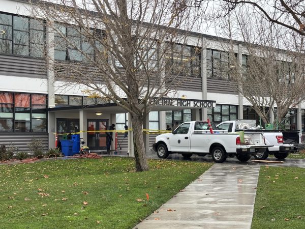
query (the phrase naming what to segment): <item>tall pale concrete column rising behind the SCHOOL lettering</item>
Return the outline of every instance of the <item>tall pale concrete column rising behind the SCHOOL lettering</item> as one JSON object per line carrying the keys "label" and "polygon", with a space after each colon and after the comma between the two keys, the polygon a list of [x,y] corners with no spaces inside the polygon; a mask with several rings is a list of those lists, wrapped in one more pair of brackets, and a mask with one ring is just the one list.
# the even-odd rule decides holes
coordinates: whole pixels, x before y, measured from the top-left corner
{"label": "tall pale concrete column rising behind the SCHOOL lettering", "polygon": [[[201,39],[201,78],[202,78],[202,99],[207,99],[207,79],[206,79],[206,39]],[[217,102],[217,101],[216,101]],[[199,117],[198,117],[199,118]],[[207,108],[202,108],[202,119],[207,120]]]}

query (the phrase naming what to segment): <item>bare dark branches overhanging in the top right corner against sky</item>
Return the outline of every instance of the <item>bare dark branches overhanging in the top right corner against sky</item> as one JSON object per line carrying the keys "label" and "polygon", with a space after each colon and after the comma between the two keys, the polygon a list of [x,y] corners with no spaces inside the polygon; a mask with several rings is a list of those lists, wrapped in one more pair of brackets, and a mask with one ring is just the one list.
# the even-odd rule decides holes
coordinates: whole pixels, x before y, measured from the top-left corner
{"label": "bare dark branches overhanging in the top right corner against sky", "polygon": [[305,35],[305,1],[303,0],[196,0],[208,20],[224,17],[235,10],[252,9],[265,20]]}

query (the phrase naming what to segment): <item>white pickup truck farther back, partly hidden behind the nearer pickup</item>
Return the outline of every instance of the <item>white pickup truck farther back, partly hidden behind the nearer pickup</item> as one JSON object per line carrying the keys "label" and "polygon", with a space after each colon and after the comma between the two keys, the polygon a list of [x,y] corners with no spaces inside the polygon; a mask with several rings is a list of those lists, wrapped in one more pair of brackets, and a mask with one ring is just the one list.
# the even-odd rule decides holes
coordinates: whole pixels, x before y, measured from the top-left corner
{"label": "white pickup truck farther back, partly hidden behind the nearer pickup", "polygon": [[[250,129],[251,128],[251,129]],[[273,145],[266,148],[264,152],[254,155],[256,159],[265,160],[269,154],[273,154],[276,158],[283,160],[289,153],[294,153],[301,149],[304,144],[301,142],[301,133],[297,131],[284,131],[281,130],[262,130],[256,129],[256,120],[236,120],[226,121],[217,125],[218,130],[227,130],[229,133],[236,131],[248,132],[263,132],[265,137],[265,144]],[[284,136],[283,136],[284,135]],[[296,138],[293,141],[291,138]],[[288,140],[290,139],[290,140]],[[285,142],[286,140],[286,142]],[[293,142],[293,143],[292,143]]]}

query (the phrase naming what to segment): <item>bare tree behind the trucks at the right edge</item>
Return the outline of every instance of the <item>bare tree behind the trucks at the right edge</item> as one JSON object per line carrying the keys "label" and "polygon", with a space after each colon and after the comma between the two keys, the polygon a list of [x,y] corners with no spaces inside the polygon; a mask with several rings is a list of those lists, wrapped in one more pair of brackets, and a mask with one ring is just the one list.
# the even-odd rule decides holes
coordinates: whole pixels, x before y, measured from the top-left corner
{"label": "bare tree behind the trucks at the right edge", "polygon": [[[281,123],[304,93],[304,37],[245,11],[230,15],[223,24],[230,38],[228,43],[222,42],[229,52],[228,81],[264,123],[269,123],[271,111],[275,123]],[[235,56],[237,44],[242,44],[240,51],[245,53],[239,60]]]}

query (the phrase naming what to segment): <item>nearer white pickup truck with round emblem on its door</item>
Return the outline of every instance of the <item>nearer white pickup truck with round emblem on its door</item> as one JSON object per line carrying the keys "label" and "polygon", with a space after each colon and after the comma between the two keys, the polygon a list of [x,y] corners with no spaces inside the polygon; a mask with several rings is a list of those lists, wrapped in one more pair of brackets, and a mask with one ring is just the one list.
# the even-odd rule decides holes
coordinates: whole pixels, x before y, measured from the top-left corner
{"label": "nearer white pickup truck with round emblem on its door", "polygon": [[[244,142],[242,138],[245,138]],[[171,153],[182,154],[184,158],[190,158],[193,154],[211,154],[212,159],[219,163],[235,155],[240,161],[248,161],[252,154],[264,152],[266,147],[271,146],[264,145],[262,133],[250,133],[243,137],[237,133],[215,130],[211,134],[206,121],[182,123],[172,133],[158,135],[153,145],[159,158],[166,158]]]}

